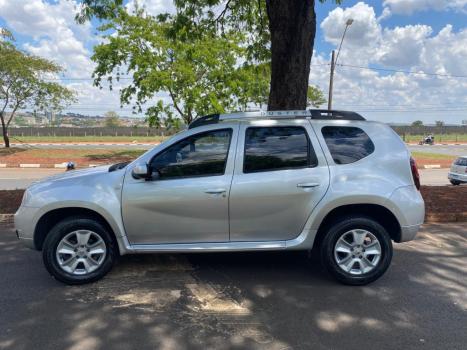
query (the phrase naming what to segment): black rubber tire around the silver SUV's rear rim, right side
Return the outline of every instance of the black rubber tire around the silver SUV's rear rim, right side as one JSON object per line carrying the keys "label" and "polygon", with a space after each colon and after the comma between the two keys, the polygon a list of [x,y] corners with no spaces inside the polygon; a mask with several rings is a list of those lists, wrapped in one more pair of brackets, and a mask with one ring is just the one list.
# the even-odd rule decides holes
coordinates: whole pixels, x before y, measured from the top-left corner
{"label": "black rubber tire around the silver SUV's rear rim, right side", "polygon": [[[334,247],[346,232],[363,229],[373,234],[381,246],[381,257],[373,270],[355,275],[339,267],[334,257]],[[376,281],[388,269],[392,260],[392,241],[388,232],[377,221],[365,216],[348,216],[328,227],[320,245],[321,262],[339,282],[352,286],[362,286]]]}

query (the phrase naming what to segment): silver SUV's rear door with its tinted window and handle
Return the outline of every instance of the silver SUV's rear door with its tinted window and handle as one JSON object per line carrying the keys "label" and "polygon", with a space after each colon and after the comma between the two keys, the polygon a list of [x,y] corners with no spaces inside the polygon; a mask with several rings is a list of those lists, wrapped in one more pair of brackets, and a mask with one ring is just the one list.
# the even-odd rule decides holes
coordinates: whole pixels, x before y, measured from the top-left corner
{"label": "silver SUV's rear door with its tinted window and handle", "polygon": [[328,166],[309,121],[242,123],[230,191],[230,240],[297,237],[328,186]]}

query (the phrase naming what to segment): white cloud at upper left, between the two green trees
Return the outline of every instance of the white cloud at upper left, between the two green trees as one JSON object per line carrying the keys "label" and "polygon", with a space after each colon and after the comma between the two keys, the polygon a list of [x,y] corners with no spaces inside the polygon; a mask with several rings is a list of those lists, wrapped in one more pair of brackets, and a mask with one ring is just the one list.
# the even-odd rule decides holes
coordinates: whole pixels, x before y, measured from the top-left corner
{"label": "white cloud at upper left, between the two green trees", "polygon": [[95,44],[97,40],[92,36],[90,23],[78,25],[75,22],[76,11],[76,3],[68,0],[54,3],[44,0],[0,0],[0,16],[7,27],[31,38],[22,45],[26,51],[62,65],[67,78],[89,79],[63,81],[76,91],[77,105],[83,108],[83,112],[92,113],[92,108],[102,112],[106,107],[118,110],[118,88],[121,85],[117,84],[113,91],[92,85],[90,78],[94,63],[90,59],[91,50],[86,45]]}

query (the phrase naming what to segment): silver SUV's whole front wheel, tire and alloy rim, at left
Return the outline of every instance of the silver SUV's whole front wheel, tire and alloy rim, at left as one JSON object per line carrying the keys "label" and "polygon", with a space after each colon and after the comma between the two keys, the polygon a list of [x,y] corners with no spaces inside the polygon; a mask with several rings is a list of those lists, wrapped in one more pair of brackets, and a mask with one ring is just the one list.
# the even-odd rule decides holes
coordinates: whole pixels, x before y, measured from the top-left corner
{"label": "silver SUV's whole front wheel, tire and alloy rim, at left", "polygon": [[47,271],[66,284],[97,281],[110,271],[116,247],[108,230],[98,221],[70,217],[56,224],[42,247]]}

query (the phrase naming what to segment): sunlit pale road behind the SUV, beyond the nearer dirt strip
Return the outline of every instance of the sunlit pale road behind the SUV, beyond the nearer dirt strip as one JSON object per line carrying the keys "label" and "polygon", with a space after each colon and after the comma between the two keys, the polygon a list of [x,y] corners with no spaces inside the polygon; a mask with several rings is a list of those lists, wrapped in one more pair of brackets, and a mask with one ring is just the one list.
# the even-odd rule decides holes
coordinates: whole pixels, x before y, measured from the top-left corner
{"label": "sunlit pale road behind the SUV, beyond the nearer dirt strip", "polygon": [[[63,169],[0,168],[0,190],[23,189],[34,181],[64,171]],[[449,185],[447,173],[448,169],[420,170],[422,185]]]}

